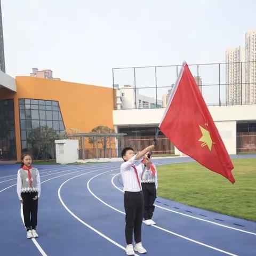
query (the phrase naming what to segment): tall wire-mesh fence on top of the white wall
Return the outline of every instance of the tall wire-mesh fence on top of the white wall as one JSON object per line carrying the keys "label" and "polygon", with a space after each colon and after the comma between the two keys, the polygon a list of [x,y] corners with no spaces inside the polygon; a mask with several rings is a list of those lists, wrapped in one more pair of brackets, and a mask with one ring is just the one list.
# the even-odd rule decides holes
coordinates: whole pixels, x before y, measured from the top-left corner
{"label": "tall wire-mesh fence on top of the white wall", "polygon": [[[208,106],[256,104],[256,61],[188,66]],[[114,108],[164,108],[180,67],[113,68]]]}

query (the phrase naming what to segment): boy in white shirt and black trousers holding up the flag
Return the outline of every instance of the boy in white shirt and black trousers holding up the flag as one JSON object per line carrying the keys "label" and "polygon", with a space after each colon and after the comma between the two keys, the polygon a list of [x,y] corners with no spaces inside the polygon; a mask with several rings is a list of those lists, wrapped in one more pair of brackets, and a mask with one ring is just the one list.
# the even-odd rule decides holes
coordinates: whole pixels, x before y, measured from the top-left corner
{"label": "boy in white shirt and black trousers holding up the flag", "polygon": [[[121,175],[124,184],[124,209],[125,209],[125,238],[126,254],[134,255],[134,251],[146,253],[141,243],[141,225],[143,219],[143,194],[141,189],[141,160],[143,156],[152,151],[155,146],[149,146],[137,155],[133,148],[127,147],[122,150],[124,162],[121,165]],[[134,232],[135,246],[132,245]]]}

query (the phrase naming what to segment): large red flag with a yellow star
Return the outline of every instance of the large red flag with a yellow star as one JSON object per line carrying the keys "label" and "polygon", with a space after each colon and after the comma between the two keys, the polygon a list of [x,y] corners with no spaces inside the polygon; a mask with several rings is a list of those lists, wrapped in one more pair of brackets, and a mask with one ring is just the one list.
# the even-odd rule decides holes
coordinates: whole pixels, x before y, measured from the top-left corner
{"label": "large red flag with a yellow star", "polygon": [[184,63],[159,128],[175,147],[234,183],[234,168],[201,92]]}

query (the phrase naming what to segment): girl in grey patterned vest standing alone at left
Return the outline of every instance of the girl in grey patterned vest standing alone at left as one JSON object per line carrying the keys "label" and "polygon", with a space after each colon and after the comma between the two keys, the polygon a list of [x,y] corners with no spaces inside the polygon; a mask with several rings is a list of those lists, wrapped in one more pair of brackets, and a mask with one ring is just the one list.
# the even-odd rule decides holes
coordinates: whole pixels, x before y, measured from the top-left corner
{"label": "girl in grey patterned vest standing alone at left", "polygon": [[17,175],[17,194],[22,203],[27,238],[36,238],[37,204],[41,193],[39,172],[31,165],[29,154],[21,157],[21,169]]}

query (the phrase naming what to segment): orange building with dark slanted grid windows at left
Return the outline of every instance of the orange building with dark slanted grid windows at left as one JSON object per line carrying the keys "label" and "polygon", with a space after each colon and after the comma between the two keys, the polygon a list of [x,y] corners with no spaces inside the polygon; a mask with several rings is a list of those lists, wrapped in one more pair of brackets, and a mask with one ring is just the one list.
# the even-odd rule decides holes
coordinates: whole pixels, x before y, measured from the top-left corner
{"label": "orange building with dark slanted grid windows at left", "polygon": [[17,92],[0,85],[0,153],[5,159],[19,160],[28,148],[28,134],[38,126],[57,133],[114,127],[112,88],[22,76],[15,82]]}

